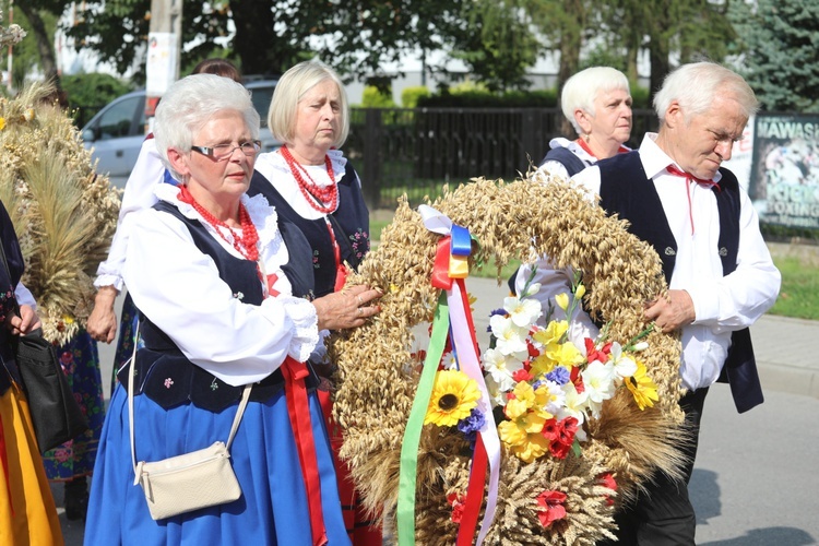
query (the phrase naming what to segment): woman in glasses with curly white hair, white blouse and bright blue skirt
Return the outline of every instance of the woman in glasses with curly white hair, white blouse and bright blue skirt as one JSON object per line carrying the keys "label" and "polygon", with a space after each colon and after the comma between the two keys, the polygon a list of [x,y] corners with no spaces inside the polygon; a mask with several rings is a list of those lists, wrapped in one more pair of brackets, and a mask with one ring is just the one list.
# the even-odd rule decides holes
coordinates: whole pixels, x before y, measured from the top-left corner
{"label": "woman in glasses with curly white hair, white blouse and bright blue skirt", "polygon": [[364,323],[373,311],[360,300],[378,293],[359,286],[313,301],[292,295],[309,284],[300,280],[309,256],[300,252],[304,239],[284,238],[263,197],[246,194],[259,115],[240,84],[185,78],[163,97],[155,127],[156,147],[180,186],[157,185],[158,203],[134,213],[122,271],[145,345],[134,369],[135,460],[225,441],[252,384],[230,447],[241,497],[151,518],[133,485],[124,368],[103,430],[85,543],[347,544],[314,375],[305,377],[310,369],[301,363],[319,330]]}

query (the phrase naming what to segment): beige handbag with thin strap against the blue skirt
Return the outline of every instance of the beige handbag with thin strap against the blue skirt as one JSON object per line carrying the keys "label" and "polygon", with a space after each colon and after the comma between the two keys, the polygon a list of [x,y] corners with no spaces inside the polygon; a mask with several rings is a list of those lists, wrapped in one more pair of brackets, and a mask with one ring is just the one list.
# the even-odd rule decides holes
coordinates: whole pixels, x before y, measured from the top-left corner
{"label": "beige handbag with thin strap against the blue skirt", "polygon": [[162,520],[180,513],[191,512],[226,502],[241,497],[241,488],[230,465],[230,443],[239,428],[241,416],[248,405],[252,384],[245,387],[241,402],[236,412],[227,443],[221,441],[191,453],[185,453],[162,461],[147,463],[136,462],[136,449],[133,434],[133,376],[136,357],[128,375],[128,417],[131,429],[131,461],[133,463],[133,485],[140,484],[145,494],[151,518]]}

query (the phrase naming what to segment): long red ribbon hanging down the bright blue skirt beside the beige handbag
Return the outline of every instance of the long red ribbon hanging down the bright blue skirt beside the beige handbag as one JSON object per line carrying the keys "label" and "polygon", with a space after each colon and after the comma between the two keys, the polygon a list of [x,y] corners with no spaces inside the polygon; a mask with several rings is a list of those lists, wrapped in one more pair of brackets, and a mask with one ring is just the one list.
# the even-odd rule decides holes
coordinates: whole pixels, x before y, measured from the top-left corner
{"label": "long red ribbon hanging down the bright blue skirt beside the beige handbag", "polygon": [[282,365],[282,375],[284,375],[285,380],[287,413],[290,417],[290,427],[293,428],[293,436],[296,438],[298,456],[301,462],[301,477],[305,480],[305,488],[307,489],[312,544],[321,546],[328,543],[328,538],[327,530],[324,529],[324,515],[321,508],[321,479],[319,479],[316,441],[312,436],[310,403],[305,385],[305,379],[309,377],[310,371],[307,369],[305,363],[299,363],[288,356]]}

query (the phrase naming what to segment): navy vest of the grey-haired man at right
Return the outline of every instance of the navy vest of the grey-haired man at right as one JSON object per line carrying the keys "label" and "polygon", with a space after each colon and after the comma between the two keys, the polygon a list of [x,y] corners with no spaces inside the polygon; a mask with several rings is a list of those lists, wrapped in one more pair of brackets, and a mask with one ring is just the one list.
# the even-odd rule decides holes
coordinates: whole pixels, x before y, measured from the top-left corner
{"label": "navy vest of the grey-haired man at right", "polygon": [[[597,163],[601,171],[601,206],[608,215],[617,214],[628,219],[628,230],[649,242],[660,254],[666,283],[670,282],[677,258],[677,241],[663,211],[654,182],[643,169],[640,154],[618,154]],[[722,179],[714,187],[720,213],[720,238],[715,252],[722,260],[723,275],[736,270],[739,249],[739,183],[727,169],[720,169]],[[733,332],[728,356],[719,381],[731,384],[739,413],[763,402],[762,387],[757,373],[750,331],[745,328]]]}

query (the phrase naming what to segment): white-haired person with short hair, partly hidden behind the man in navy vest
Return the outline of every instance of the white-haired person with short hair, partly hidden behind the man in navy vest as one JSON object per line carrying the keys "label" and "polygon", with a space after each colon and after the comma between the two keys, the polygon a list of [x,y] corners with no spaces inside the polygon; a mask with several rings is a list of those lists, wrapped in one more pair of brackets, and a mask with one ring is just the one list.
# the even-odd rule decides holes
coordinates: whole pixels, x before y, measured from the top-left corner
{"label": "white-haired person with short hair, partly hidden behind the man in navy vest", "polygon": [[551,139],[542,170],[569,179],[600,159],[629,151],[624,144],[631,135],[631,93],[619,70],[592,67],[572,75],[563,85],[560,107],[578,139]]}

